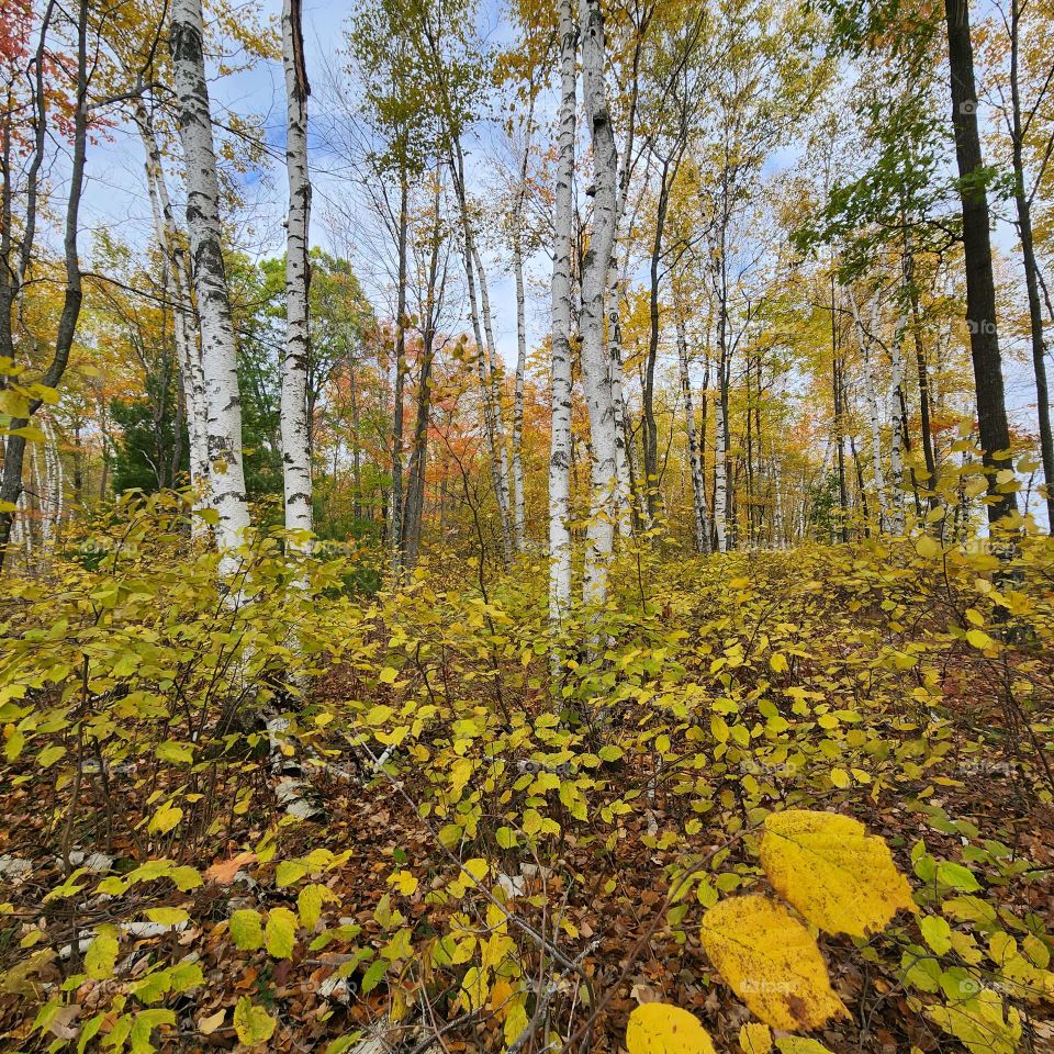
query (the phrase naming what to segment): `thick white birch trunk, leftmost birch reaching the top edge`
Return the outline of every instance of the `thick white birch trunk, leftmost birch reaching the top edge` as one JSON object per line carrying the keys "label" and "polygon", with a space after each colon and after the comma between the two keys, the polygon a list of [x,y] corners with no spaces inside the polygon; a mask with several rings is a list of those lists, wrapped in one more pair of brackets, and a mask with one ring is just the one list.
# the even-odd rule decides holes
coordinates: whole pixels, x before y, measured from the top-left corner
{"label": "thick white birch trunk, leftmost birch reaching the top edge", "polygon": [[212,502],[218,513],[216,541],[225,556],[221,570],[233,571],[231,556],[249,526],[242,469],[242,397],[227,276],[220,248],[216,155],[205,81],[201,0],[175,0],[170,46],[179,137],[187,165],[187,228],[198,313],[201,366],[205,382],[205,428]]}

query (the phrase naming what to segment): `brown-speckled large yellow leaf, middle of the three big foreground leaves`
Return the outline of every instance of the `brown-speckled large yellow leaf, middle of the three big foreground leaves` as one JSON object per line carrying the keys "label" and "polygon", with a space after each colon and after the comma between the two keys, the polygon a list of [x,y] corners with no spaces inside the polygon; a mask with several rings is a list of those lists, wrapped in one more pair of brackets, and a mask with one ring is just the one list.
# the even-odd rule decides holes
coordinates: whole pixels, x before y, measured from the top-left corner
{"label": "brown-speckled large yellow leaf, middle of the three big foreground leaves", "polygon": [[775,900],[722,900],[703,916],[699,938],[736,995],[774,1029],[809,1031],[848,1013],[816,941]]}

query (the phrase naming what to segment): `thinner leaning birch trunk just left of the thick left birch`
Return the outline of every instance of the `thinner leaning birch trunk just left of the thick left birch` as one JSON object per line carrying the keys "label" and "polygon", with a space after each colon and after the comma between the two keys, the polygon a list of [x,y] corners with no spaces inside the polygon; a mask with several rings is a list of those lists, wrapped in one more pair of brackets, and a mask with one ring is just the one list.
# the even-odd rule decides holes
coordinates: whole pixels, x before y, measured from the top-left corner
{"label": "thinner leaning birch trunk just left of the thick left birch", "polygon": [[[154,233],[166,261],[165,290],[172,302],[172,329],[176,358],[183,381],[187,415],[188,461],[190,484],[194,491],[194,509],[209,505],[209,439],[205,423],[205,379],[201,369],[201,351],[194,337],[193,307],[186,270],[186,256],[180,245],[172,202],[165,181],[161,152],[149,111],[136,100],[135,123],[146,154],[146,186],[154,213]],[[208,532],[200,516],[191,517],[191,534],[202,538]]]}

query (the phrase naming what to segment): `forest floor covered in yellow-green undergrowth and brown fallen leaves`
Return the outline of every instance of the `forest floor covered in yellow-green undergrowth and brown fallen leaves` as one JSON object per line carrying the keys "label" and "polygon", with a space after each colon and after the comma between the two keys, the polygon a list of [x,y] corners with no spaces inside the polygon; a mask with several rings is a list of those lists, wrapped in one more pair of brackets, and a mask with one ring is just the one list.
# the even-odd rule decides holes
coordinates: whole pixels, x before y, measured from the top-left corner
{"label": "forest floor covered in yellow-green undergrowth and brown fallen leaves", "polygon": [[[278,738],[225,724],[244,685],[194,721],[220,671],[267,697],[288,597],[257,603],[235,669],[214,610],[186,628],[186,567],[139,602],[125,569],[112,655],[87,579],[27,586],[41,636],[0,668],[0,1045],[614,1054],[662,1002],[719,1052],[1054,1051],[1051,551],[1008,585],[906,549],[638,558],[590,616],[603,636],[556,644],[540,568],[485,595],[449,562],[369,605],[333,593],[298,624],[314,676],[274,694]],[[170,627],[188,605],[181,654],[158,593]],[[149,653],[122,664],[117,623]],[[759,842],[787,809],[861,821],[913,906],[866,937],[812,927],[848,1014],[769,1033],[766,986],[790,983],[726,983],[700,921],[783,892]]]}

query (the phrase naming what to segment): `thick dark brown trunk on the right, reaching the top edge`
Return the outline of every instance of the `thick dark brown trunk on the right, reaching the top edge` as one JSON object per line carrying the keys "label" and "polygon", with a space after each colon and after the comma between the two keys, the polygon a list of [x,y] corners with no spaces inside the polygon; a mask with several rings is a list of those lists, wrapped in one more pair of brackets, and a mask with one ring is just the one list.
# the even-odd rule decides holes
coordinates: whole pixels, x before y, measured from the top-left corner
{"label": "thick dark brown trunk on the right, reaching the top edge", "polygon": [[963,213],[966,264],[966,325],[977,394],[980,449],[988,479],[988,522],[1018,509],[1017,497],[999,492],[997,474],[1009,464],[1010,429],[1002,386],[1002,360],[996,327],[996,284],[991,270],[988,193],[985,189],[980,136],[977,131],[977,91],[974,48],[969,36],[969,0],[944,0],[948,56],[951,70],[952,123],[958,161],[958,194]]}

